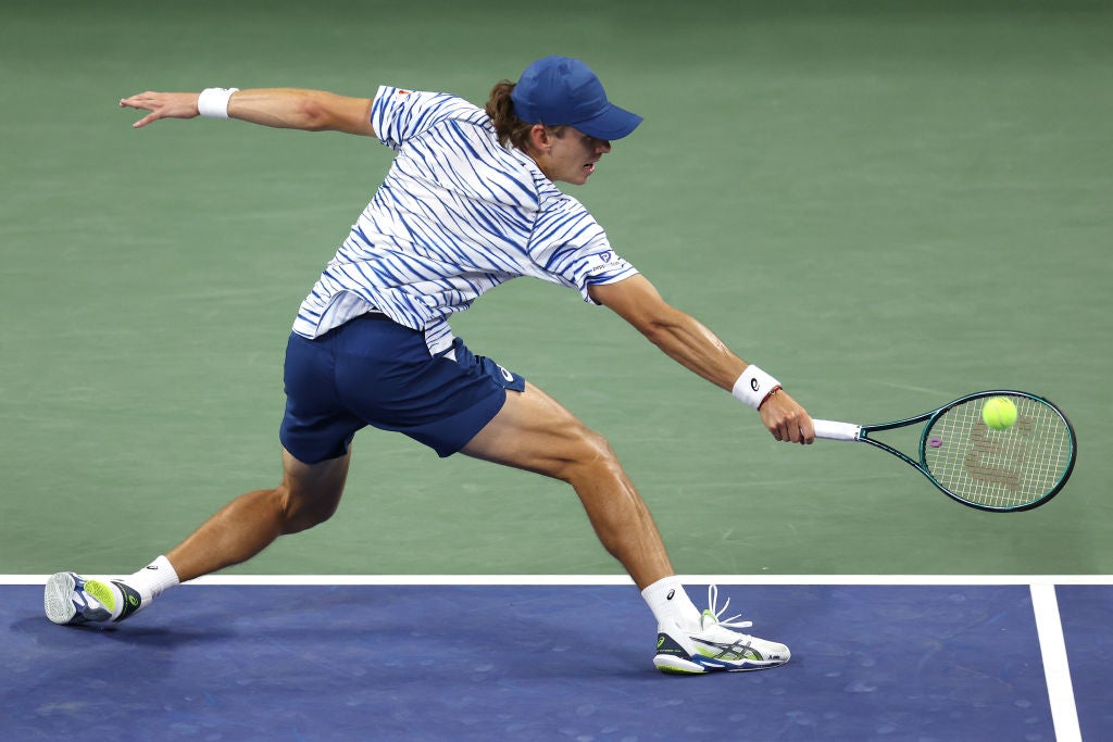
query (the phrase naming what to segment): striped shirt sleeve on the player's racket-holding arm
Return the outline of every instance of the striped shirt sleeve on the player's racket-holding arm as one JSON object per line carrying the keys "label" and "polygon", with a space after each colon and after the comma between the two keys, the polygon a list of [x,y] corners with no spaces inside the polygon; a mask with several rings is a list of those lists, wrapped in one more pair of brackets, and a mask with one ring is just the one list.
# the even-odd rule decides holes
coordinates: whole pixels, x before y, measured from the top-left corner
{"label": "striped shirt sleeve on the player's racket-holding arm", "polygon": [[588,294],[591,286],[613,284],[638,274],[637,268],[611,249],[607,233],[594,217],[570,196],[561,199],[559,208],[539,217],[530,255],[559,283],[579,289],[589,304],[598,304]]}

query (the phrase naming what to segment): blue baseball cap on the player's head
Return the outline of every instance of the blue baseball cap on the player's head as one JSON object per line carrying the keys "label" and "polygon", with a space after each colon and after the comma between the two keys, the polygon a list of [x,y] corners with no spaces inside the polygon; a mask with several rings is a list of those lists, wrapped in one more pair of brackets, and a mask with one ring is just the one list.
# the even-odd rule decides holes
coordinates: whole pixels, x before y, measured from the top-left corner
{"label": "blue baseball cap on the player's head", "polygon": [[572,126],[597,139],[621,139],[642,120],[607,100],[591,68],[570,57],[545,57],[526,67],[510,98],[523,121]]}

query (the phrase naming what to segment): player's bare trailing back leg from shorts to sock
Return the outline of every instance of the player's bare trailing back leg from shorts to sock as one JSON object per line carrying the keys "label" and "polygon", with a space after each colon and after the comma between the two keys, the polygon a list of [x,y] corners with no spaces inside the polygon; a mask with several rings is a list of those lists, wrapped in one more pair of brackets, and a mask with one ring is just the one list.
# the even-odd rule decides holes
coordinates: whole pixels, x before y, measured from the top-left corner
{"label": "player's bare trailing back leg from shorts to sock", "polygon": [[283,482],[240,495],[166,556],[181,582],[246,562],[278,536],[327,521],[339,505],[351,452],[303,464],[283,451]]}

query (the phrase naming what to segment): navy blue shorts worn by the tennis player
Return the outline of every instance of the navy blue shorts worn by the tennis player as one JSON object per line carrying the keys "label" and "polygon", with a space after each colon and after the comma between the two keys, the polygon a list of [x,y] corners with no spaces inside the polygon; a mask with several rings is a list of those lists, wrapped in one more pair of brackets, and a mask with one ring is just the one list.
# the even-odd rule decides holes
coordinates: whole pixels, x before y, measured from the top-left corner
{"label": "navy blue shorts worn by the tennis player", "polygon": [[525,388],[524,378],[473,355],[460,338],[433,356],[423,333],[378,314],[312,340],[292,333],[285,382],[279,438],[306,464],[343,456],[368,425],[451,456],[499,414],[506,389]]}

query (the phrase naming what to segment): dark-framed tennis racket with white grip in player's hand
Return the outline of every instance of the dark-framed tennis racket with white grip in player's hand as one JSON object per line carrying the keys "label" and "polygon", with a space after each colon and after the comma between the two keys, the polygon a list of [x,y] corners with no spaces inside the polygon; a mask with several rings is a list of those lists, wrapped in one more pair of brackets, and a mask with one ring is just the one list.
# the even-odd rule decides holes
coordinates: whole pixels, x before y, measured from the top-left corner
{"label": "dark-framed tennis racket with white grip in player's hand", "polygon": [[[982,407],[993,397],[1016,405],[1016,423],[992,428]],[[870,437],[925,423],[919,459]],[[812,421],[817,438],[868,443],[900,458],[963,505],[1007,513],[1043,505],[1066,484],[1078,445],[1058,407],[1026,392],[977,392],[942,407],[893,423],[855,425]]]}

